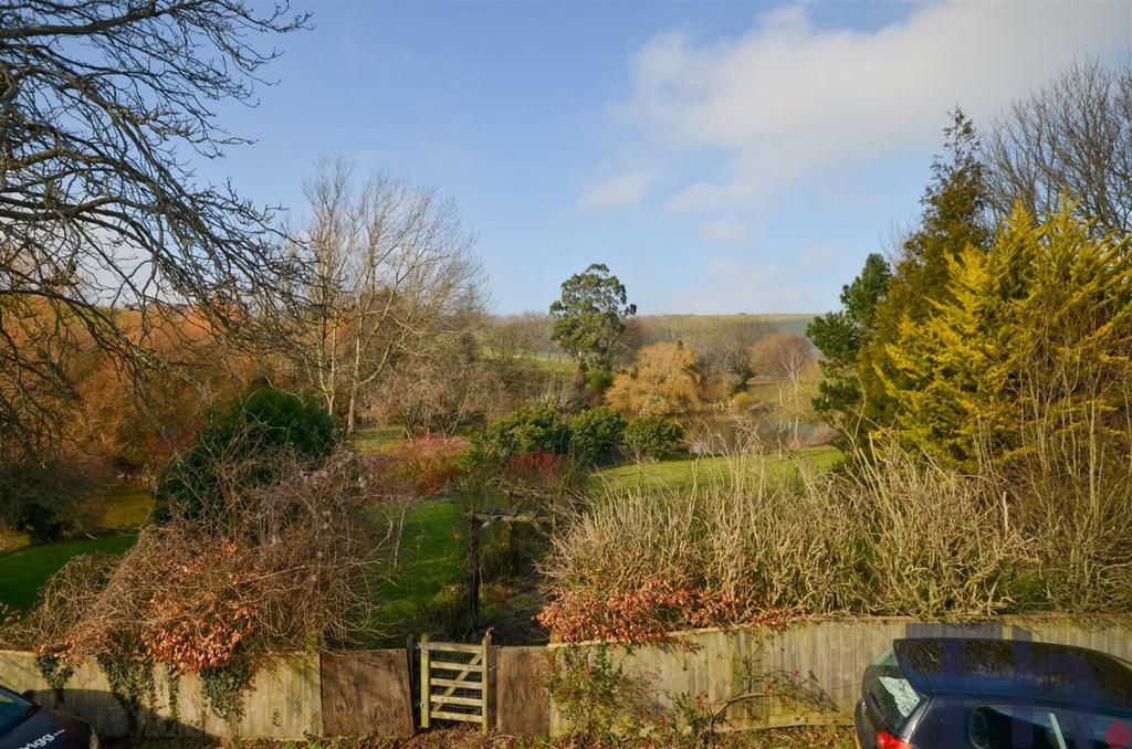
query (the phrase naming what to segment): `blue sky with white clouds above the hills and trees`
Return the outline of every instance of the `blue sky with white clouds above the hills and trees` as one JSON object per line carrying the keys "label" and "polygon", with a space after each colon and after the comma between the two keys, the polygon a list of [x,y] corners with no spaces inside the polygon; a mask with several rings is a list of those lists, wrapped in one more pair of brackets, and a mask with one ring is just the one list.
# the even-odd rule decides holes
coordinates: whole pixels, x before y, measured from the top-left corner
{"label": "blue sky with white clouds above the hills and trees", "polygon": [[305,215],[319,156],[453,197],[497,312],[591,262],[638,313],[821,312],[918,214],[947,111],[1132,60],[1132,2],[293,0],[255,144],[197,165]]}

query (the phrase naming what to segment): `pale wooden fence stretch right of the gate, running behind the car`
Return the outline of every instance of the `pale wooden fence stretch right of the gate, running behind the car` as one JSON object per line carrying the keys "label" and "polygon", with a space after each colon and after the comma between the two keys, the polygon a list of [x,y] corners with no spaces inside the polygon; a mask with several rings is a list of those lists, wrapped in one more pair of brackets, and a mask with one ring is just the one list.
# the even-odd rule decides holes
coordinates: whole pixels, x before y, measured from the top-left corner
{"label": "pale wooden fence stretch right of the gate, running behind the car", "polygon": [[[728,707],[726,728],[851,724],[865,668],[902,637],[994,637],[1078,645],[1132,660],[1132,618],[1010,617],[970,625],[867,618],[798,623],[781,630],[709,629],[677,635],[663,646],[614,647],[612,662],[627,681],[644,685],[644,708],[664,711],[679,696],[723,706],[751,683],[773,680],[783,697],[741,700]],[[551,645],[582,647],[595,643]],[[794,688],[791,688],[794,687]],[[798,692],[812,699],[799,699]],[[551,704],[550,731],[569,729]]]}

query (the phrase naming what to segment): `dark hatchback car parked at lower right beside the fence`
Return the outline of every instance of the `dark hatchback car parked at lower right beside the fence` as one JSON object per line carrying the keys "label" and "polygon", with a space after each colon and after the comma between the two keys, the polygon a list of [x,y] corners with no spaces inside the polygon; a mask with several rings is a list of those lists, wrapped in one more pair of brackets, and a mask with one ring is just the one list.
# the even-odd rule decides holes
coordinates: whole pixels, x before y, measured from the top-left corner
{"label": "dark hatchback car parked at lower right beside the fence", "polygon": [[865,671],[864,749],[1129,749],[1132,668],[1024,640],[898,639]]}

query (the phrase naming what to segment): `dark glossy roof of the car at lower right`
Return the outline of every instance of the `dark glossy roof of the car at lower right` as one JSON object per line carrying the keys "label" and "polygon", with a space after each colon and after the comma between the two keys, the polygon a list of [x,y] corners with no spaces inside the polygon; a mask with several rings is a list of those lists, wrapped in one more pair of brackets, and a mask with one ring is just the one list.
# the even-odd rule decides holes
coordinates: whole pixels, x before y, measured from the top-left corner
{"label": "dark glossy roof of the car at lower right", "polygon": [[904,677],[923,695],[978,695],[1132,711],[1132,669],[1083,647],[1028,640],[924,637],[894,640]]}

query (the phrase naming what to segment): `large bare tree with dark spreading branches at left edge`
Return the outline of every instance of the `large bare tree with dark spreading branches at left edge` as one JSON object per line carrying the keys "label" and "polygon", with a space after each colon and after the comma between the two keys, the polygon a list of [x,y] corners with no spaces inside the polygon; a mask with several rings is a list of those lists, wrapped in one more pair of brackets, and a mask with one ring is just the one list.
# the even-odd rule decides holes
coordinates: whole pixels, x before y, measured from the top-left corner
{"label": "large bare tree with dark spreading branches at left edge", "polygon": [[[200,184],[195,154],[243,143],[215,103],[254,103],[256,43],[306,25],[243,0],[0,2],[0,433],[58,431],[77,348],[135,382],[173,307],[255,337],[251,300],[288,285],[273,212]],[[125,316],[126,307],[136,315]]]}

